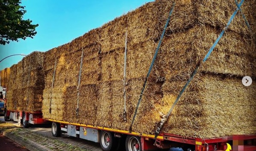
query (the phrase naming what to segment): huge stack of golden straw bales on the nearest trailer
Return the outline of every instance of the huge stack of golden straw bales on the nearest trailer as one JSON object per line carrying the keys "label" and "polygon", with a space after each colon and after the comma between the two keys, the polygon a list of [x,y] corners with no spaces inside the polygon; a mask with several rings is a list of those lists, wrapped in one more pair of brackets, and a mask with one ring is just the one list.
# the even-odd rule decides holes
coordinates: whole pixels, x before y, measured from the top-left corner
{"label": "huge stack of golden straw bales on the nearest trailer", "polygon": [[[128,130],[171,6],[170,0],[147,3],[46,52],[44,117]],[[255,6],[253,0],[242,5],[253,33]],[[159,112],[168,112],[235,9],[232,0],[176,1],[133,131],[154,133]],[[125,30],[127,122],[123,121]],[[81,82],[77,87],[82,50]],[[163,132],[200,138],[255,134],[256,85],[244,87],[241,83],[243,76],[256,77],[255,50],[256,39],[238,12],[210,58],[199,67]]]}

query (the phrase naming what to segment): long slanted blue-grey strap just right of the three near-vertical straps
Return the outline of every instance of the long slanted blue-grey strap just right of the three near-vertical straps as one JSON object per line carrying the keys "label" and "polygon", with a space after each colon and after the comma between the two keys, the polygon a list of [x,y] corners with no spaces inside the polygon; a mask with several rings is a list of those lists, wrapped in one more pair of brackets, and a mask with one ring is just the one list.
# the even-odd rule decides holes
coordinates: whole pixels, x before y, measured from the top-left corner
{"label": "long slanted blue-grey strap just right of the three near-vertical straps", "polygon": [[131,125],[130,125],[130,128],[129,128],[129,132],[130,132],[130,133],[131,133],[131,131],[132,131],[132,126],[133,126],[133,123],[134,123],[134,119],[135,119],[135,117],[136,117],[137,110],[138,110],[138,108],[139,108],[139,105],[140,105],[140,102],[141,102],[141,99],[142,99],[142,96],[143,96],[143,92],[144,92],[144,90],[145,90],[146,83],[147,83],[148,78],[149,78],[149,74],[150,74],[150,72],[151,72],[151,70],[152,70],[152,67],[153,67],[154,62],[155,62],[155,58],[156,58],[156,56],[157,56],[157,54],[158,54],[158,50],[159,50],[159,48],[160,48],[160,46],[161,46],[161,43],[162,43],[162,40],[163,40],[163,38],[164,38],[164,33],[165,33],[166,28],[167,28],[167,25],[168,25],[168,23],[169,23],[169,21],[170,21],[170,17],[171,17],[171,15],[172,15],[172,13],[173,13],[174,6],[175,6],[175,2],[173,2],[172,9],[170,10],[170,13],[169,13],[167,22],[166,22],[166,24],[165,24],[165,26],[164,26],[164,31],[162,32],[161,39],[160,39],[160,41],[159,41],[159,43],[158,43],[158,47],[157,47],[157,49],[156,49],[156,51],[155,51],[154,58],[153,58],[153,60],[152,60],[152,62],[151,62],[151,65],[150,65],[150,67],[149,67],[149,72],[148,72],[148,74],[147,74],[147,76],[146,76],[146,79],[145,79],[145,82],[144,82],[144,84],[143,84],[143,87],[142,87],[142,90],[141,90],[141,93],[140,93],[140,98],[139,98],[139,100],[138,100],[137,107],[136,107],[136,109],[135,109],[135,113],[134,113],[134,116],[133,116],[133,119],[132,119],[132,122],[131,122]]}

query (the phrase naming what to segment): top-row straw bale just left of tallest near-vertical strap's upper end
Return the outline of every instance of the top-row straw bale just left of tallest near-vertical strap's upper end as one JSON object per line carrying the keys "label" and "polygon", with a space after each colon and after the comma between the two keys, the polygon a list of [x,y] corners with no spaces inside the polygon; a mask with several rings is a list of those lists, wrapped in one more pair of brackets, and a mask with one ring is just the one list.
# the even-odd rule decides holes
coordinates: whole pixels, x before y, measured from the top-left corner
{"label": "top-row straw bale just left of tallest near-vertical strap's upper end", "polygon": [[125,46],[127,15],[117,17],[101,27],[101,52],[120,49]]}

